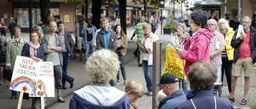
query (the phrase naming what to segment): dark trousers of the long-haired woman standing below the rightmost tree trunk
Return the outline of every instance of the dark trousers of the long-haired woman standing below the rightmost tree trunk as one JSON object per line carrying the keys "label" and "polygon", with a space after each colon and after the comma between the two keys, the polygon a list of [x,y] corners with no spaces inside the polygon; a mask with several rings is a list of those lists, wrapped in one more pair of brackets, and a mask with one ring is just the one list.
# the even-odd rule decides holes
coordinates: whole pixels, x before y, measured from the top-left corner
{"label": "dark trousers of the long-haired woman standing below the rightmost tree trunk", "polygon": [[[119,58],[119,61],[121,62],[120,63],[120,69],[121,69],[121,72],[122,72],[122,78],[123,78],[123,80],[126,80],[125,56],[122,55],[121,53],[118,53],[118,58]],[[118,71],[117,79],[120,80],[119,71]]]}

